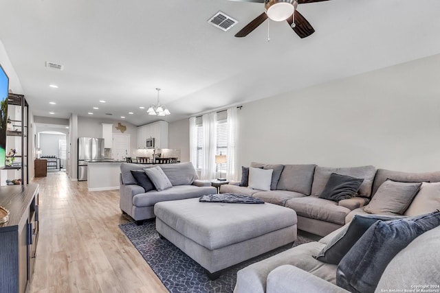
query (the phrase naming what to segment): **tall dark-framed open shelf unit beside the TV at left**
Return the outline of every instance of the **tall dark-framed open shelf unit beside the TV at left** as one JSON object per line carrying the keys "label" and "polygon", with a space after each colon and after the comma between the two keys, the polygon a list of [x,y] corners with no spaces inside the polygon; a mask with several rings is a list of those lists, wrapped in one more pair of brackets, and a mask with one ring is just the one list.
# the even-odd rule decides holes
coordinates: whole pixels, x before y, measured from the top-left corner
{"label": "tall dark-framed open shelf unit beside the TV at left", "polygon": [[[8,154],[8,150],[15,148],[18,152],[14,156],[15,160],[20,159],[20,162],[19,164],[6,166],[4,169],[21,170],[21,184],[29,184],[29,104],[24,95],[8,94],[8,117],[12,117],[13,130],[6,132],[6,154]],[[8,155],[6,157],[8,158]]]}

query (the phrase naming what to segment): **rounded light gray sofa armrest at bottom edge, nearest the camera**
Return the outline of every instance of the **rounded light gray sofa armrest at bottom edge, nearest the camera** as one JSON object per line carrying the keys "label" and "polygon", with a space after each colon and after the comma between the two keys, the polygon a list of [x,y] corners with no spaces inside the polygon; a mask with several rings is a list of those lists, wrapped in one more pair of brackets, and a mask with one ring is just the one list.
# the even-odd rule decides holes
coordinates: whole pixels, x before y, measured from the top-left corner
{"label": "rounded light gray sofa armrest at bottom edge, nearest the camera", "polygon": [[296,266],[278,266],[267,276],[266,293],[349,293]]}

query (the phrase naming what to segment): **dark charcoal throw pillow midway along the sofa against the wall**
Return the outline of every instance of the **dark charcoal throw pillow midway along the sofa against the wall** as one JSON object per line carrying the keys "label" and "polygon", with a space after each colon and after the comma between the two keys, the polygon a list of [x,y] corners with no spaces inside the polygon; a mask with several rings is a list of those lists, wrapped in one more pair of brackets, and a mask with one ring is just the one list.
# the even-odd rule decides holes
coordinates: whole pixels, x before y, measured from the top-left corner
{"label": "dark charcoal throw pillow midway along the sofa against the wall", "polygon": [[348,200],[358,192],[362,182],[364,182],[363,178],[332,173],[319,198],[335,202]]}

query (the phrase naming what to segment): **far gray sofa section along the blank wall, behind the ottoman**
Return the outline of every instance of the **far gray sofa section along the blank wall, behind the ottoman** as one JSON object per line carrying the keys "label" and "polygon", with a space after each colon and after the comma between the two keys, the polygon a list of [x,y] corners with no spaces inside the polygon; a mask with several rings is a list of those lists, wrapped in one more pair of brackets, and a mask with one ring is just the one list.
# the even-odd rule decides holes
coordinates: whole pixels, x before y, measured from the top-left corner
{"label": "far gray sofa section along the blank wall, behind the ottoman", "polygon": [[[401,182],[440,182],[440,172],[406,173],[376,169],[373,166],[338,168],[317,165],[267,165],[252,162],[250,167],[274,169],[271,189],[275,188],[261,191],[232,182],[221,185],[220,193],[246,194],[261,198],[265,202],[294,209],[298,215],[298,229],[320,236],[328,235],[344,226],[356,213],[364,213],[363,207],[388,178]],[[340,202],[319,198],[332,173],[363,178],[364,182],[358,194]]]}

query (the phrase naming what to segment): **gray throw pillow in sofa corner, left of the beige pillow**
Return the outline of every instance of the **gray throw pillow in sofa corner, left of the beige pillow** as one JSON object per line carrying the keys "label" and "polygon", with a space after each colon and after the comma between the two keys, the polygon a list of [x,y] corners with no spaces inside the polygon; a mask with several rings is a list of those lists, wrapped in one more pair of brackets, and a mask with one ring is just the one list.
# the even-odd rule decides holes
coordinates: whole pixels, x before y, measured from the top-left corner
{"label": "gray throw pillow in sofa corner, left of the beige pillow", "polygon": [[419,191],[421,183],[386,180],[364,207],[366,213],[403,215]]}

